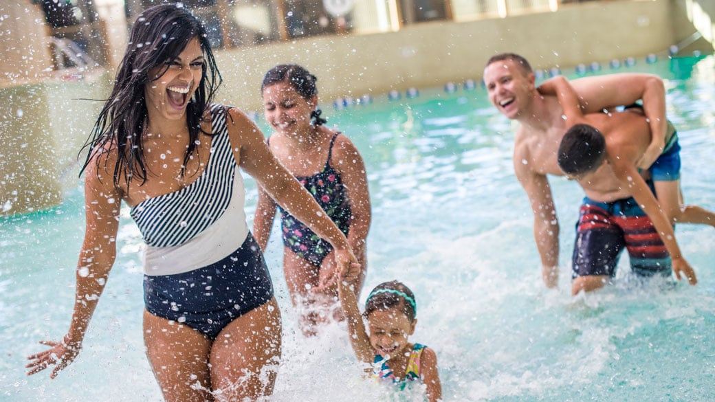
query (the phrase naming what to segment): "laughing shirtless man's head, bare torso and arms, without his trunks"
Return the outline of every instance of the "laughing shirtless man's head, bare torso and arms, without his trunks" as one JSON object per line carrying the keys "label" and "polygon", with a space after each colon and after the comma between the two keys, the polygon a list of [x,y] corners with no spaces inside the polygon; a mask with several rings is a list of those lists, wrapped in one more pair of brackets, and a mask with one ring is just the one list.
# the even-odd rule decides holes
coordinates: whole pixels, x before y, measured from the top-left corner
{"label": "laughing shirtless man's head, bare torso and arms, without his trunks", "polygon": [[[484,82],[489,99],[509,119],[520,124],[514,144],[516,177],[531,201],[534,237],[541,256],[542,278],[546,286],[558,285],[558,219],[546,175],[562,176],[556,152],[566,132],[563,110],[556,96],[536,90],[536,77],[526,59],[517,54],[498,54],[487,62]],[[584,113],[644,103],[646,116],[665,116],[663,81],[651,74],[610,74],[573,81]],[[654,133],[640,167],[649,167],[664,147],[665,119],[650,119]]]}

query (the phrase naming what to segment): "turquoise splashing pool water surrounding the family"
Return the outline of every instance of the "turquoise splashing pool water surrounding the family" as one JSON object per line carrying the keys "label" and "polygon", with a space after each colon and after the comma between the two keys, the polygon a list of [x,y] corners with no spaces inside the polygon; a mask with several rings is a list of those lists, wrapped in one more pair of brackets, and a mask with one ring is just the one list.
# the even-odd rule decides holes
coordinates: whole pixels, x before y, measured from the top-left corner
{"label": "turquoise splashing pool water surrounding the family", "polygon": [[[666,79],[668,113],[683,147],[684,195],[715,209],[715,57],[638,60],[601,72],[612,71]],[[412,339],[437,351],[444,401],[712,400],[713,227],[676,231],[699,275],[696,287],[633,283],[624,257],[616,285],[571,298],[581,189],[551,180],[562,268],[560,288],[546,290],[528,201],[511,167],[513,126],[483,89],[423,89],[414,99],[324,109],[368,168],[373,227],[365,288],[397,278],[415,291],[419,323]],[[252,216],[255,185],[248,180],[247,186]],[[52,210],[0,220],[2,401],[161,399],[143,351],[141,240],[126,211],[117,263],[84,350],[53,381],[24,375],[24,358],[39,349],[37,340],[60,338],[69,323],[83,225],[81,186]],[[360,379],[341,325],[317,338],[299,335],[277,235],[267,260],[285,335],[273,400],[384,400],[383,388]]]}

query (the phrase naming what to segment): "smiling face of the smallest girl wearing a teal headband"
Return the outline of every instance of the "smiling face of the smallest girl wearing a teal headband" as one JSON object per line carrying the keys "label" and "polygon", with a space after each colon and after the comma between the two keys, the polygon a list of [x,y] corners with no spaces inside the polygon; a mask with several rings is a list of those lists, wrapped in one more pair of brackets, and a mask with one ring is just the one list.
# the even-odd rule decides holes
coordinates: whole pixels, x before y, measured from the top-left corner
{"label": "smiling face of the smallest girl wearing a teal headband", "polygon": [[408,337],[415,332],[417,320],[408,318],[398,308],[374,310],[368,315],[370,345],[375,353],[387,358],[404,353],[408,348]]}

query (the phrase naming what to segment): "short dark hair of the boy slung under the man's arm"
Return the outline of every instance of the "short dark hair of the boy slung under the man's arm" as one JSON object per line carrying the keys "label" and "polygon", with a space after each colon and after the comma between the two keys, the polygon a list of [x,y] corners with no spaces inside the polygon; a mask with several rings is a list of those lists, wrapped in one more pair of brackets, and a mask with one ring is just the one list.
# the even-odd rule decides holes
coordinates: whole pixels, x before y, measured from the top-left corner
{"label": "short dark hair of the boy slung under the man's arm", "polygon": [[583,175],[596,170],[606,157],[606,138],[596,127],[576,124],[558,146],[558,167],[566,175]]}

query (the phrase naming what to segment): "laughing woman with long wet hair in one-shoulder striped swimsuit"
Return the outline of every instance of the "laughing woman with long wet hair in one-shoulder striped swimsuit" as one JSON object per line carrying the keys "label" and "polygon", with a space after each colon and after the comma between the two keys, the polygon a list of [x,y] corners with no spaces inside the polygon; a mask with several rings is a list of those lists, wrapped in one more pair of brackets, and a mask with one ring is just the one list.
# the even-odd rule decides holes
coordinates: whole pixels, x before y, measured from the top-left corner
{"label": "laughing woman with long wet hair in one-shoulder striped swimsuit", "polygon": [[[360,272],[345,235],[275,160],[245,114],[211,104],[221,83],[204,28],[173,4],[139,16],[87,147],[87,227],[69,331],[30,356],[29,374],[77,357],[117,253],[121,201],[144,254],[144,342],[166,401],[270,395],[280,313],[248,230],[239,167]],[[196,385],[199,386],[196,386]]]}

